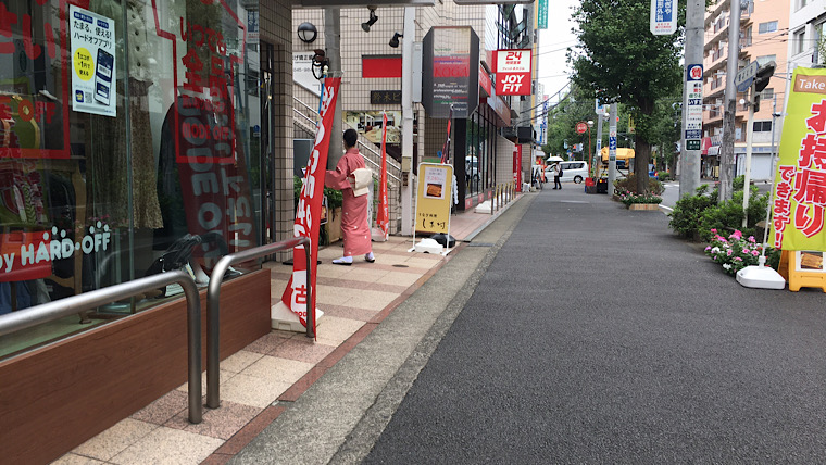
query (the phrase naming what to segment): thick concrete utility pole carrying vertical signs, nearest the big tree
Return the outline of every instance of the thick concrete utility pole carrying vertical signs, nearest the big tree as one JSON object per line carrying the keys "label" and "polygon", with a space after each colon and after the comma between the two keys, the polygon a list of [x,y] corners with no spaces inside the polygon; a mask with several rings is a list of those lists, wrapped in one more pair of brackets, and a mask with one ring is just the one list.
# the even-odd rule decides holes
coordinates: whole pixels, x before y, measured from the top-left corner
{"label": "thick concrete utility pole carrying vertical signs, nearest the big tree", "polygon": [[[739,1],[739,0],[733,0]],[[704,0],[687,0],[686,3],[686,66],[683,72],[683,127],[680,144],[680,168],[679,168],[679,197],[693,196],[700,186],[700,150],[691,148],[689,150],[686,143],[686,128],[689,112],[689,80],[687,80],[688,70],[692,65],[703,64],[703,34],[705,17]],[[702,129],[700,137],[702,137]]]}

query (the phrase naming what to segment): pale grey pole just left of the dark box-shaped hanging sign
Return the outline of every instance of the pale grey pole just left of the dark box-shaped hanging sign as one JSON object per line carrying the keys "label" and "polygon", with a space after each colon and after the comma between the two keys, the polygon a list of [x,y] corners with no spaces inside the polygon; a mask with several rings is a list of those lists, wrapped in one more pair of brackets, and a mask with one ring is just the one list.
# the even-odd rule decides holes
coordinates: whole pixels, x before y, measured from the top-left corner
{"label": "pale grey pole just left of the dark box-shaped hanging sign", "polygon": [[413,42],[416,9],[404,7],[401,45],[401,234],[413,236]]}

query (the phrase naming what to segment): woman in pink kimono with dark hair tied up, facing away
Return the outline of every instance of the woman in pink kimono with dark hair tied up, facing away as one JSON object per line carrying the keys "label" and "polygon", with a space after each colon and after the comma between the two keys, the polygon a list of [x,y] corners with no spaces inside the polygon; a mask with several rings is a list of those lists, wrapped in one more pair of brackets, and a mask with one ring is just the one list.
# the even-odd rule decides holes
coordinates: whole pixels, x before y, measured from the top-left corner
{"label": "woman in pink kimono with dark hair tied up, facing away", "polygon": [[336,265],[352,265],[353,256],[364,255],[368,263],[376,261],[371,243],[370,218],[367,218],[368,183],[373,181],[371,171],[364,165],[364,158],[355,148],[359,134],[354,129],[345,131],[347,152],[338,161],[336,169],[327,169],[324,185],[340,190],[341,234],[345,239],[345,256],[333,261]]}

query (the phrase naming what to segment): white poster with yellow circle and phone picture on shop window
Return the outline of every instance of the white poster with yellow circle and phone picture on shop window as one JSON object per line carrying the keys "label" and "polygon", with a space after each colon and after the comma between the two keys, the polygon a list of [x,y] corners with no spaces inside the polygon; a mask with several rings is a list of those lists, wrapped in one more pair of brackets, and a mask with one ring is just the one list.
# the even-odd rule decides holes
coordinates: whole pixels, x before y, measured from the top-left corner
{"label": "white poster with yellow circle and phone picture on shop window", "polygon": [[68,35],[72,110],[116,116],[114,20],[70,4]]}

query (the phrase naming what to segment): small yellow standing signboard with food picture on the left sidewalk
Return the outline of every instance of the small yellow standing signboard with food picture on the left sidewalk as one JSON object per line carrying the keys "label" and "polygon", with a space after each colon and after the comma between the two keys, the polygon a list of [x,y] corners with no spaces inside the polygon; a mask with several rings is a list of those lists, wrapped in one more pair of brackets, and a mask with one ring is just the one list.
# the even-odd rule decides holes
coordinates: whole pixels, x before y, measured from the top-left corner
{"label": "small yellow standing signboard with food picture on the left sidewalk", "polygon": [[418,164],[415,226],[417,232],[450,232],[452,187],[452,165],[442,163]]}

